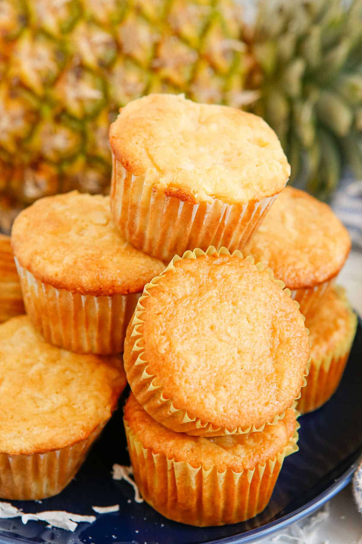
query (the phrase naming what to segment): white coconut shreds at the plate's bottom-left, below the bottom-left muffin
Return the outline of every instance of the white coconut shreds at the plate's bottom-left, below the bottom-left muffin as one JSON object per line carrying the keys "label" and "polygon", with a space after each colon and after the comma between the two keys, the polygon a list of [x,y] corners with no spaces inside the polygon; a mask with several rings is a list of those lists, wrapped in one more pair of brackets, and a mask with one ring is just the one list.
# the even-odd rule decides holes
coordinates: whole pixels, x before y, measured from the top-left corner
{"label": "white coconut shreds at the plate's bottom-left, below the bottom-left muffin", "polygon": [[22,510],[15,508],[10,503],[0,503],[0,518],[21,517],[26,525],[28,521],[45,521],[52,527],[59,527],[74,532],[78,523],[93,523],[96,516],[80,516],[63,511],[37,512],[36,514],[24,514]]}

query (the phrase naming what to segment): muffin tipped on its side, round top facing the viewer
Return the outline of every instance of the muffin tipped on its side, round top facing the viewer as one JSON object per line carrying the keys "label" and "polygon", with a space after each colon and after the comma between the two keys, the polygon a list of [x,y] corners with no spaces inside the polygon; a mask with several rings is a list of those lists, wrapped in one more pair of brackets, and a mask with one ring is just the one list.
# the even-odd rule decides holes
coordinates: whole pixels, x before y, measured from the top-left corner
{"label": "muffin tipped on its side, round top facing the viewer", "polygon": [[124,344],[138,402],[190,435],[262,430],[305,383],[304,318],[271,270],[222,248],[187,251],[145,286]]}

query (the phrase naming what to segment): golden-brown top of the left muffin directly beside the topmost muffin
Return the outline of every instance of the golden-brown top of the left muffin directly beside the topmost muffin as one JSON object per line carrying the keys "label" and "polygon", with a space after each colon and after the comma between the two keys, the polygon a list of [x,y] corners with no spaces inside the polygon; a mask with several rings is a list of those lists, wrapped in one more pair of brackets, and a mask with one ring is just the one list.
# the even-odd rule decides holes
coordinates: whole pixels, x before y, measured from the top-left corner
{"label": "golden-brown top of the left muffin directly beside the topmost muffin", "polygon": [[140,293],[164,264],[113,225],[108,196],[48,196],[24,209],[11,232],[14,255],[36,279],[91,295]]}

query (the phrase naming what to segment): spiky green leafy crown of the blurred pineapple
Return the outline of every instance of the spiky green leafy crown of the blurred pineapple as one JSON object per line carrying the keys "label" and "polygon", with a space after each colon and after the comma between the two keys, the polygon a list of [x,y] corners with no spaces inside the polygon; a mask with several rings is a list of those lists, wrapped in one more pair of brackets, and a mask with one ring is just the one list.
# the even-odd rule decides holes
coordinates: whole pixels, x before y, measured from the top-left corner
{"label": "spiky green leafy crown of the blurred pineapple", "polygon": [[263,79],[253,111],[281,139],[291,181],[327,199],[342,151],[362,176],[362,2],[262,0],[251,41]]}

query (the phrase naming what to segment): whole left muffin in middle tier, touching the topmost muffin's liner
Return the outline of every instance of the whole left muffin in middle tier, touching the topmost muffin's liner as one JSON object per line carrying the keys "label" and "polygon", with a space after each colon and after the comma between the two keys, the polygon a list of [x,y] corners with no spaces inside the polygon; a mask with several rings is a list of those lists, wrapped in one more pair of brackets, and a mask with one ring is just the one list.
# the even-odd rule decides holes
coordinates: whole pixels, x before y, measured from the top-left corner
{"label": "whole left muffin in middle tier, touching the topmost muffin's liner", "polygon": [[37,200],[16,218],[11,244],[27,313],[47,342],[123,351],[139,295],[164,265],[120,236],[109,197],[72,191]]}

